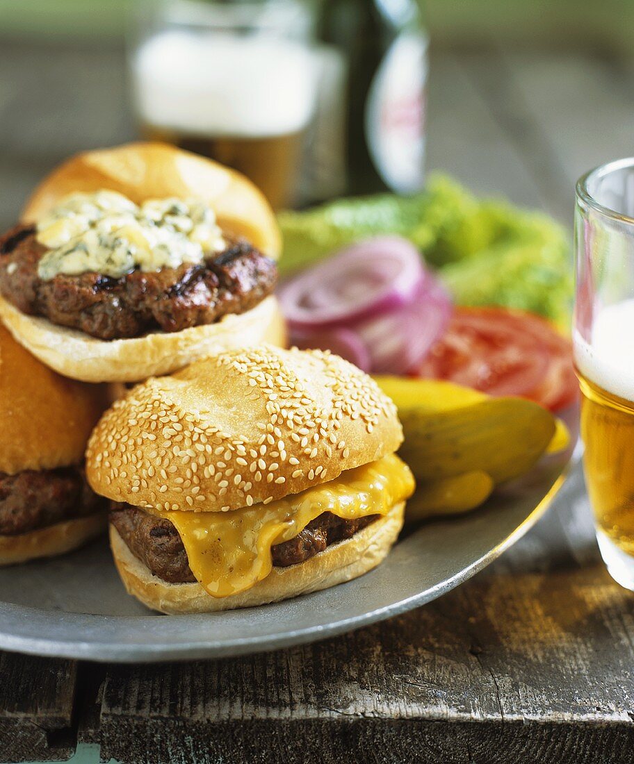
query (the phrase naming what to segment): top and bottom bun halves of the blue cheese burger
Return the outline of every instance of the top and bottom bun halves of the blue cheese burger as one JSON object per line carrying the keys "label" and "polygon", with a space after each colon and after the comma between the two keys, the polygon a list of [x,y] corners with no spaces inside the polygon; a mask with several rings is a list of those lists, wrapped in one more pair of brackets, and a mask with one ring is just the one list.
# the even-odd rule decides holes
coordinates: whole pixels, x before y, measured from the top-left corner
{"label": "top and bottom bun halves of the blue cheese burger", "polygon": [[[249,180],[216,162],[161,143],[127,144],[72,157],[37,187],[24,207],[22,220],[37,222],[63,196],[97,189],[118,191],[136,203],[168,196],[203,199],[216,212],[223,230],[247,238],[269,257],[279,255],[281,238],[275,215]],[[274,296],[215,324],[108,342],[27,316],[2,298],[0,319],[44,364],[85,382],[136,382],[153,374],[169,374],[196,358],[227,348],[286,342],[284,320]]]}

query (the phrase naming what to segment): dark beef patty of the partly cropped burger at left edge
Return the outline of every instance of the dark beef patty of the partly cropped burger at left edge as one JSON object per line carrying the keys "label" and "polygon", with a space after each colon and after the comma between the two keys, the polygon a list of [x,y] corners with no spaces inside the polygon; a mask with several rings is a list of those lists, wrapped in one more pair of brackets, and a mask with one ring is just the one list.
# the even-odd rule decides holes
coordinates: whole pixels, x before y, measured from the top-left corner
{"label": "dark beef patty of the partly cropped burger at left edge", "polygon": [[46,528],[65,520],[106,509],[106,501],[93,494],[83,469],[0,472],[0,535]]}

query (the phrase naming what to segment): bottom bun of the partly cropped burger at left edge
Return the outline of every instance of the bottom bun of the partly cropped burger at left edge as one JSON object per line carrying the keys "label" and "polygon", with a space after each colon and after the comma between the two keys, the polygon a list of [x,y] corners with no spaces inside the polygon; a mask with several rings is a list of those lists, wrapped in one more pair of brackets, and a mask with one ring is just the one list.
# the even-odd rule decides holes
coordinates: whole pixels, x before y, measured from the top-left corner
{"label": "bottom bun of the partly cropped burger at left edge", "polygon": [[0,536],[0,565],[63,555],[99,536],[105,527],[106,513],[99,513],[18,536]]}

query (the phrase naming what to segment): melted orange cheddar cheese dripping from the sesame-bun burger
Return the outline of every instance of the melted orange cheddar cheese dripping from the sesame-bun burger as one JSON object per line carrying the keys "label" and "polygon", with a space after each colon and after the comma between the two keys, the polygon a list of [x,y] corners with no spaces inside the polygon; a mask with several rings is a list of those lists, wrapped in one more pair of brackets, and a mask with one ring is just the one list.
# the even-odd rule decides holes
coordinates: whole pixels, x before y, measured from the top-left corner
{"label": "melted orange cheddar cheese dripping from the sesame-bun burger", "polygon": [[414,491],[408,466],[392,454],[330,482],[232,512],[148,510],[174,524],[193,575],[212,597],[252,588],[271,572],[271,546],[294,539],[331,512],[344,520],[385,515]]}

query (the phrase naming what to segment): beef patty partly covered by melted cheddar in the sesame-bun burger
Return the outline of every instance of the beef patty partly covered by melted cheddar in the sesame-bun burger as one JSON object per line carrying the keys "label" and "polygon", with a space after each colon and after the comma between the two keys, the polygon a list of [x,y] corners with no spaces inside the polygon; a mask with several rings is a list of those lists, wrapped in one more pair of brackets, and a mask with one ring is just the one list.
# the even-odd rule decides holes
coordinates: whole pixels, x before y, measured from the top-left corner
{"label": "beef patty partly covered by melted cheddar in the sesame-bun burger", "polygon": [[[190,571],[183,542],[169,520],[151,515],[130,504],[112,502],[110,522],[136,558],[151,572],[171,584],[196,581]],[[314,557],[330,544],[350,539],[373,523],[379,515],[343,520],[330,512],[316,517],[294,539],[271,548],[273,565],[287,568]]]}

